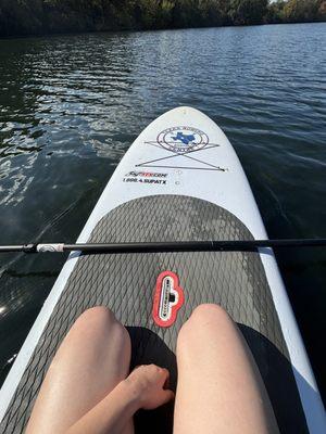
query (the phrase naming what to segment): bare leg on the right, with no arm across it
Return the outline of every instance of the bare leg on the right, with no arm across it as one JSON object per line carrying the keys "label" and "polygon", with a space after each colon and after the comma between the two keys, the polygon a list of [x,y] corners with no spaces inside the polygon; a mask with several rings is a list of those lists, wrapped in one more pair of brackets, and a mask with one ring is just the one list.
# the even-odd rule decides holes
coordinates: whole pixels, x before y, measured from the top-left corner
{"label": "bare leg on the right, with no arm across it", "polygon": [[278,433],[253,357],[234,321],[202,305],[180,330],[174,434]]}

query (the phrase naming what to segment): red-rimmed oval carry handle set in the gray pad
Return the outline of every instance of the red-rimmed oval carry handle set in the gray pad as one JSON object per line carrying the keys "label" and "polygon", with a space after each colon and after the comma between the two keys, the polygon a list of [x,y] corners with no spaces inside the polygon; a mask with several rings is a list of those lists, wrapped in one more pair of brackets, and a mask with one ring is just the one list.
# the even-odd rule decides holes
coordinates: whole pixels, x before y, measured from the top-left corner
{"label": "red-rimmed oval carry handle set in the gray pad", "polygon": [[153,320],[160,327],[171,327],[185,301],[179,279],[173,271],[159,275],[153,299]]}

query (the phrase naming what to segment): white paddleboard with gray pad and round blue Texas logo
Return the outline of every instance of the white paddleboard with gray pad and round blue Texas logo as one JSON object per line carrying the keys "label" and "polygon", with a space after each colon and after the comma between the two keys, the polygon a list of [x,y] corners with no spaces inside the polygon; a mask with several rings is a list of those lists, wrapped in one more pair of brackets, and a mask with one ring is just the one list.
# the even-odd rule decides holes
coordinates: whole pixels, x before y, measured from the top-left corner
{"label": "white paddleboard with gray pad and round blue Texas logo", "polygon": [[[89,217],[79,243],[264,239],[239,159],[204,114],[175,108],[130,146]],[[185,291],[176,321],[152,317],[158,276],[175,271]],[[201,303],[218,303],[238,322],[265,381],[280,432],[323,432],[324,408],[271,248],[259,252],[78,256],[60,273],[0,394],[0,432],[23,432],[60,342],[86,308],[106,305],[128,327],[133,363],[167,367],[176,383],[179,328]],[[167,412],[167,417],[166,417]],[[137,418],[151,432],[172,408]],[[152,418],[152,419],[151,419]]]}

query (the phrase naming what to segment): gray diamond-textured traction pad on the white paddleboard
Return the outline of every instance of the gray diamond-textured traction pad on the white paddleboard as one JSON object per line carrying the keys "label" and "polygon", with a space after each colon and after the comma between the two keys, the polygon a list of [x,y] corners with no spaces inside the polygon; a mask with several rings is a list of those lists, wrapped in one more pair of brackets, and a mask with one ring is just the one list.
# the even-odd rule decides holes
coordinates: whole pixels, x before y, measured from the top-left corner
{"label": "gray diamond-textured traction pad on the white paddleboard", "polygon": [[[113,209],[96,226],[91,242],[251,240],[243,224],[212,203],[188,196],[156,195]],[[154,324],[156,277],[177,272],[185,305],[175,324]],[[176,384],[178,331],[202,303],[222,305],[239,323],[264,379],[283,433],[304,433],[305,419],[279,321],[260,256],[255,252],[154,253],[82,256],[20,382],[0,433],[22,433],[47,368],[75,319],[87,308],[110,307],[128,330],[131,366],[155,362]],[[136,417],[137,432],[172,432],[172,405]],[[158,423],[158,418],[161,418]]]}

